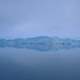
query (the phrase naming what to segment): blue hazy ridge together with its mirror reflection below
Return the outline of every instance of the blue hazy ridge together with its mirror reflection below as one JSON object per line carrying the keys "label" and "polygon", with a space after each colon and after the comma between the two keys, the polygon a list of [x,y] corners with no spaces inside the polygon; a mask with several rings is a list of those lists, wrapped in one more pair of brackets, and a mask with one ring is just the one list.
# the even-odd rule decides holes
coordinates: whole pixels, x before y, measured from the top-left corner
{"label": "blue hazy ridge together with its mirror reflection below", "polygon": [[80,48],[80,40],[38,36],[31,38],[0,39],[0,47],[27,48],[39,51]]}

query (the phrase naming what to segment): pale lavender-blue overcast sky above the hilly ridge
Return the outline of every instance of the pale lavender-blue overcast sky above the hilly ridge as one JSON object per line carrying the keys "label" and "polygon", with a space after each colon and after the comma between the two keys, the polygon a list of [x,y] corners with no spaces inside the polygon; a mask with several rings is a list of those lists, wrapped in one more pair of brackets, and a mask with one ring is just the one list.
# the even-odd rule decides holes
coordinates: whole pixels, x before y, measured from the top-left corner
{"label": "pale lavender-blue overcast sky above the hilly ridge", "polygon": [[0,38],[80,38],[80,0],[0,0]]}

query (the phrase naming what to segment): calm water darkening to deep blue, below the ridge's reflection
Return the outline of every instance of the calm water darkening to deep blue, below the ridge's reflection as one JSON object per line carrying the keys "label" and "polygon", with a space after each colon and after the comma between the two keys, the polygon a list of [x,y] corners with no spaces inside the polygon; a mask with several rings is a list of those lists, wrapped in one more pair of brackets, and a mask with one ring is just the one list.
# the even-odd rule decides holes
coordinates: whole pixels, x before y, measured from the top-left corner
{"label": "calm water darkening to deep blue, below the ridge's reflection", "polygon": [[0,80],[80,80],[80,49],[0,48]]}

